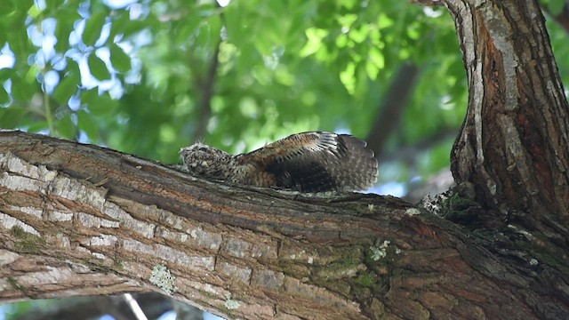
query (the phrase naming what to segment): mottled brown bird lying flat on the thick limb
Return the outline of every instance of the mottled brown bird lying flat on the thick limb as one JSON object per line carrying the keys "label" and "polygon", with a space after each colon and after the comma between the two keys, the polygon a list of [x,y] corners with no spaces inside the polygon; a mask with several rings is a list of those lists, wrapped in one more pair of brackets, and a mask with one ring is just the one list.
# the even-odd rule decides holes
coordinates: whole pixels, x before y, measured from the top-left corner
{"label": "mottled brown bird lying flat on the thick limb", "polygon": [[334,132],[301,132],[231,155],[201,142],[181,148],[195,176],[264,188],[317,193],[365,190],[377,181],[378,162],[364,140]]}

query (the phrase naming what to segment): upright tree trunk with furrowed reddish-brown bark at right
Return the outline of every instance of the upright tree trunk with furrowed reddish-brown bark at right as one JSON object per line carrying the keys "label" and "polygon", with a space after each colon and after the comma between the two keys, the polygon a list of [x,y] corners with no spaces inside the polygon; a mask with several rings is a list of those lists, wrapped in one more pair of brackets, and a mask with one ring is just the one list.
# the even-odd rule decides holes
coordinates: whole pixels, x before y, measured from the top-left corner
{"label": "upright tree trunk with furrowed reddish-brown bark at right", "polygon": [[471,183],[477,202],[501,217],[517,214],[527,228],[565,244],[569,107],[540,7],[533,0],[445,4],[469,79],[454,178]]}

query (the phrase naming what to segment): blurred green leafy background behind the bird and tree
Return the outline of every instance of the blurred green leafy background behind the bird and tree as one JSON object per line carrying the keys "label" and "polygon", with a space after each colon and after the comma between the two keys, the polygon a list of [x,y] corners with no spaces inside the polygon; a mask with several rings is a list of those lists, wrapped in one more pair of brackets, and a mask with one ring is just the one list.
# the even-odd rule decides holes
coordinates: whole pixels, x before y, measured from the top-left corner
{"label": "blurred green leafy background behind the bird and tree", "polygon": [[[541,6],[569,84],[566,1]],[[453,20],[407,1],[2,0],[0,30],[0,128],[166,164],[351,132],[373,191],[405,196],[448,168],[468,104]]]}

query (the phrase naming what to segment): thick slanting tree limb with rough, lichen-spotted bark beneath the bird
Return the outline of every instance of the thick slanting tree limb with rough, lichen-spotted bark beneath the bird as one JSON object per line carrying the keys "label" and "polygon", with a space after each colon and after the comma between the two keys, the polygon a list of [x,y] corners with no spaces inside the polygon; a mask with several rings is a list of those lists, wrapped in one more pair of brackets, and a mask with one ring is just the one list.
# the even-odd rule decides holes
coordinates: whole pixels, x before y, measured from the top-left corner
{"label": "thick slanting tree limb with rough, lichen-spotted bark beneath the bird", "polygon": [[228,186],[25,132],[0,132],[0,168],[2,302],[156,291],[229,318],[569,316],[566,264],[527,239],[511,249],[524,230]]}

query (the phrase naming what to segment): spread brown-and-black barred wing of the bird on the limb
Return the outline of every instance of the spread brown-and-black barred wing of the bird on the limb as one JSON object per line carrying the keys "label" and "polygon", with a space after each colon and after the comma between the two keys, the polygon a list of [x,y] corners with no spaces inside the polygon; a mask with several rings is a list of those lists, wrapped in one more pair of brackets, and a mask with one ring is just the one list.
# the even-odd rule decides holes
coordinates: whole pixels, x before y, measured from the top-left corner
{"label": "spread brown-and-black barred wing of the bird on the limb", "polygon": [[274,175],[278,187],[304,192],[362,190],[377,180],[377,160],[348,134],[302,132],[244,155]]}

